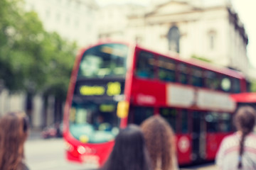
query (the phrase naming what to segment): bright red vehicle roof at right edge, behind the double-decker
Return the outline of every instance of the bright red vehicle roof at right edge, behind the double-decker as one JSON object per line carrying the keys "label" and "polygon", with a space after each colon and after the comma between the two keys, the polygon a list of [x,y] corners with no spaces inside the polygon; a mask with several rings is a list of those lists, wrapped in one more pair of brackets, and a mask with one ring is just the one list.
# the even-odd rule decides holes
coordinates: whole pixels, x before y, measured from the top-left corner
{"label": "bright red vehicle roof at right edge, behind the double-decker", "polygon": [[231,97],[238,103],[256,103],[256,93],[232,94]]}

